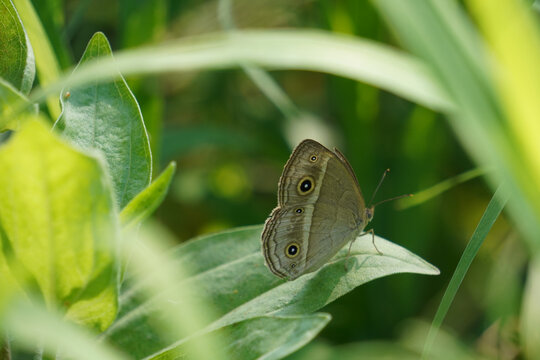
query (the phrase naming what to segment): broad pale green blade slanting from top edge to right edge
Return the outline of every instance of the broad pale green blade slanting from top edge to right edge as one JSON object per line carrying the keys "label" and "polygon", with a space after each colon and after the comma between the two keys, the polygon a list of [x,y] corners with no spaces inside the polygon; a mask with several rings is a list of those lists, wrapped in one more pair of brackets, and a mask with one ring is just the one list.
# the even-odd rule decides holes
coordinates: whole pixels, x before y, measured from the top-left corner
{"label": "broad pale green blade slanting from top edge to right edge", "polygon": [[[455,112],[447,112],[452,129],[479,166],[494,170],[486,176],[491,188],[504,183],[511,192],[508,214],[529,245],[538,247],[540,186],[495,88],[501,67],[486,51],[472,21],[457,1],[373,1],[403,44],[433,67],[441,86],[455,100]],[[504,23],[511,26],[508,20]],[[521,36],[513,39],[519,41]],[[536,79],[534,73],[530,79]]]}

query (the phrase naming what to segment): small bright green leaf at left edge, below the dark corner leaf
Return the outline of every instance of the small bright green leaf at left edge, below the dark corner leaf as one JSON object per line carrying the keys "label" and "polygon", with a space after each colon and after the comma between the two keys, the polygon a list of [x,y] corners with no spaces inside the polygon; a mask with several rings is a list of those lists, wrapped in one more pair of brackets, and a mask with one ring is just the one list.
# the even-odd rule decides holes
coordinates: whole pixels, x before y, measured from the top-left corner
{"label": "small bright green leaf at left edge, below the dark corner leaf", "polygon": [[28,99],[0,78],[0,132],[19,128],[20,121],[25,117],[15,114],[23,106],[29,106]]}

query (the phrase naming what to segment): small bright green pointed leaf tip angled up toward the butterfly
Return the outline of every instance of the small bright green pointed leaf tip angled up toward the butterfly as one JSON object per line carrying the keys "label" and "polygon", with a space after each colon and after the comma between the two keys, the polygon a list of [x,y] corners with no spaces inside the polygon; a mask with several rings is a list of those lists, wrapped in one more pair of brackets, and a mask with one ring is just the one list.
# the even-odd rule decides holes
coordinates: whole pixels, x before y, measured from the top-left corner
{"label": "small bright green pointed leaf tip angled up toward the butterfly", "polygon": [[124,227],[139,224],[161,204],[176,171],[176,163],[171,162],[146,189],[141,191],[120,212],[120,222]]}

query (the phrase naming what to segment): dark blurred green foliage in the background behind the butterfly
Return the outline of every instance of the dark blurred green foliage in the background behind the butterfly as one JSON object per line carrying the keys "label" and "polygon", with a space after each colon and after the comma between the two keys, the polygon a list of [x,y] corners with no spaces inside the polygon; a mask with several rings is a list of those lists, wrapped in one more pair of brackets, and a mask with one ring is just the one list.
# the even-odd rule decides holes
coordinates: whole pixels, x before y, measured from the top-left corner
{"label": "dark blurred green foliage in the background behind the butterfly", "polygon": [[[219,1],[32,3],[63,69],[81,58],[97,31],[106,34],[116,51],[223,30]],[[230,11],[238,29],[315,28],[401,46],[379,8],[368,1],[237,0]],[[377,199],[422,191],[476,166],[455,128],[433,110],[324,73],[288,70],[270,76],[296,115],[305,115],[301,127],[291,126],[299,119],[276,106],[242,68],[126,79],[149,132],[154,177],[170,161],[178,164],[155,215],[178,239],[263,223],[276,204],[278,179],[294,145],[291,132],[294,138],[315,136],[338,147],[368,198],[386,168],[391,173]],[[346,353],[349,343],[366,342],[351,348],[380,346],[367,342],[372,340],[392,342],[385,350],[389,353],[394,347],[401,354],[404,349],[420,351],[421,341],[405,341],[403,333],[421,328],[424,334],[426,326],[408,320],[430,320],[435,314],[491,195],[489,186],[475,178],[401,211],[392,204],[378,207],[372,221],[375,232],[428,259],[441,276],[401,274],[355,289],[323,308],[332,321],[319,340],[296,356],[316,358],[305,355],[309,351],[333,354],[329,345],[336,354]],[[485,239],[445,321],[464,343],[456,346],[466,348],[458,354],[518,354],[517,317],[527,254],[503,215]]]}

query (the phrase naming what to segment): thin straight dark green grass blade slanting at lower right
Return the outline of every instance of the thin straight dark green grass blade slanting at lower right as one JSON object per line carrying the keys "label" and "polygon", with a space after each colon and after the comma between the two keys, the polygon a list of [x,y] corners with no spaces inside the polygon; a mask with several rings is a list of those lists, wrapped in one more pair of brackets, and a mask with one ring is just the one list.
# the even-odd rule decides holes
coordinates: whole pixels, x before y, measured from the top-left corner
{"label": "thin straight dark green grass blade slanting at lower right", "polygon": [[497,217],[499,217],[499,214],[504,208],[507,200],[508,194],[505,189],[500,186],[491,198],[491,201],[489,202],[486,211],[484,212],[484,215],[482,215],[478,226],[474,230],[471,240],[469,240],[469,243],[467,244],[467,247],[465,248],[465,251],[461,256],[461,259],[456,266],[456,270],[454,271],[454,274],[450,279],[450,283],[448,284],[448,287],[444,292],[443,298],[441,300],[441,303],[439,304],[439,308],[437,309],[437,313],[433,318],[431,328],[429,329],[427,335],[427,339],[424,345],[424,351],[422,353],[422,359],[425,359],[426,355],[430,353],[431,347],[433,346],[433,343],[437,336],[437,332],[439,331],[439,328],[441,327],[442,322],[444,321],[444,318],[448,313],[448,309],[450,308],[450,305],[452,304],[454,297],[456,296],[461,282],[465,278],[465,275],[467,274],[467,271],[469,270],[472,261],[476,257],[480,246],[482,246],[484,239],[491,230],[491,227],[495,223],[495,220],[497,220]]}

